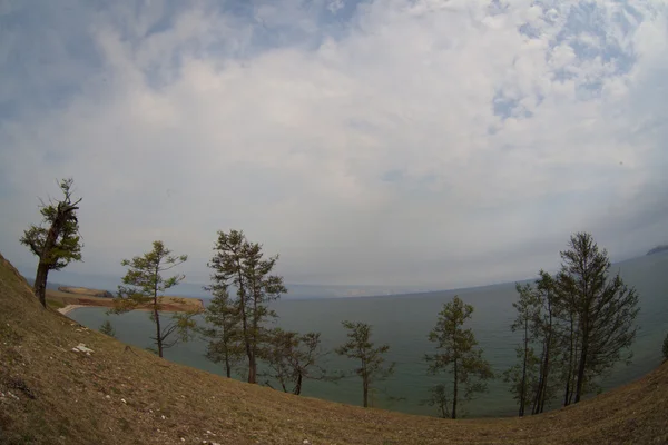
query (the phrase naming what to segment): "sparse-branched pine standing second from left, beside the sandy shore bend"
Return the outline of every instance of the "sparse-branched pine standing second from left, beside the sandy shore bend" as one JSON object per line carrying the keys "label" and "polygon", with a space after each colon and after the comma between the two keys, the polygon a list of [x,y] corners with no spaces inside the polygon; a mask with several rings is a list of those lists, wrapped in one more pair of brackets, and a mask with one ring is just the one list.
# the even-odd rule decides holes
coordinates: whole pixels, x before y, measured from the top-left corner
{"label": "sparse-branched pine standing second from left, beside the sandy shore bend", "polygon": [[187,342],[196,327],[194,313],[174,314],[170,323],[160,326],[160,310],[165,290],[178,285],[185,275],[163,278],[163,273],[170,270],[188,259],[187,255],[174,256],[163,241],[154,241],[153,250],[131,260],[124,259],[122,266],[129,267],[122,277],[125,286],[118,286],[118,296],[114,299],[112,314],[122,314],[139,306],[150,307],[150,320],[156,325],[156,336],[151,337],[157,346],[157,354],[163,357],[166,348],[179,340]]}

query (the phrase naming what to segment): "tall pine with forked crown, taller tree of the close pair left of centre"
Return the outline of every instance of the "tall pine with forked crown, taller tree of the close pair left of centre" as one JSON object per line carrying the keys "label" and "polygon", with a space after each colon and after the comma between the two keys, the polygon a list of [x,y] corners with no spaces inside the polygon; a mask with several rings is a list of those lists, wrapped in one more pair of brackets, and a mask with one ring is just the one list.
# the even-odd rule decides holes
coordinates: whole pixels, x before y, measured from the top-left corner
{"label": "tall pine with forked crown, taller tree of the close pair left of centre", "polygon": [[208,263],[213,269],[212,281],[219,289],[236,288],[233,300],[240,323],[240,338],[248,357],[248,383],[257,383],[257,360],[267,342],[263,324],[276,317],[267,304],[287,293],[283,277],[271,275],[278,255],[263,258],[262,246],[249,243],[243,231],[218,231],[214,257]]}

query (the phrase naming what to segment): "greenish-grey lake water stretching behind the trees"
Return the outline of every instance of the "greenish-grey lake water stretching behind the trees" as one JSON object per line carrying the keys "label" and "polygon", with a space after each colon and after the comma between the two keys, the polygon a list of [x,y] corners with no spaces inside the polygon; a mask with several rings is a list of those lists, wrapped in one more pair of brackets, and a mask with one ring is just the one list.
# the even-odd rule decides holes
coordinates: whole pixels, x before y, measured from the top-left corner
{"label": "greenish-grey lake water stretching behind the trees", "polygon": [[[615,265],[615,271],[617,268],[640,295],[640,330],[632,347],[632,364],[617,366],[601,382],[605,389],[632,382],[656,368],[661,363],[661,343],[668,333],[668,254],[620,263]],[[425,353],[433,352],[433,345],[428,342],[426,335],[435,324],[443,303],[455,294],[475,307],[470,327],[484,349],[485,358],[500,375],[514,363],[518,338],[509,328],[514,318],[514,284],[422,295],[284,300],[274,304],[274,308],[279,315],[277,326],[298,332],[321,332],[325,348],[333,348],[345,340],[341,320],[372,324],[375,342],[390,344],[387,358],[396,362],[395,374],[379,385],[380,393],[374,398],[374,406],[433,415],[432,407],[421,405],[421,400],[428,396],[428,389],[440,382],[439,377],[426,375],[423,357]],[[72,312],[70,317],[91,328],[98,328],[108,318],[121,342],[139,347],[149,346],[149,336],[154,334],[153,324],[143,312],[107,316],[104,308],[84,308]],[[205,343],[197,339],[167,349],[165,356],[177,363],[222,374],[222,366],[204,357],[205,347]],[[326,367],[333,370],[347,370],[353,366],[352,362],[333,354],[326,360]],[[497,379],[490,383],[489,388],[489,393],[464,406],[468,415],[514,415],[515,405],[507,385]],[[338,384],[307,380],[303,394],[360,405],[362,388],[360,380],[354,377]],[[387,395],[393,398],[390,399]]]}

